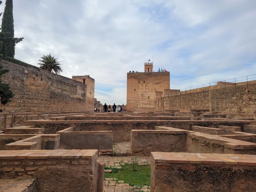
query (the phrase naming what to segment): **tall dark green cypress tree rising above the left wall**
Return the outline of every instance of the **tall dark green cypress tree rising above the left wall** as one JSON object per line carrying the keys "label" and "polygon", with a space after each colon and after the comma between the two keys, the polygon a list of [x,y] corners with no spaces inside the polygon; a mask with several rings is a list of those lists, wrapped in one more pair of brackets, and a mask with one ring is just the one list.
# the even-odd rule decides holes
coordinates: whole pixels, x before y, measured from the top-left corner
{"label": "tall dark green cypress tree rising above the left wall", "polygon": [[2,31],[0,34],[0,53],[7,57],[14,58],[15,43],[23,40],[14,38],[13,0],[6,0],[2,19]]}

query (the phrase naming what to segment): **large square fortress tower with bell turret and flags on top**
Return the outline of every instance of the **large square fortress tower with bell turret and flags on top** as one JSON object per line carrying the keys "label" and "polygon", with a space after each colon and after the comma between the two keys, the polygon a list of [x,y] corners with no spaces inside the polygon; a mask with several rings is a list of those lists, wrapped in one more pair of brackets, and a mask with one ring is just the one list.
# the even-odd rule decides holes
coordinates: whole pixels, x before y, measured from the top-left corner
{"label": "large square fortress tower with bell turret and flags on top", "polygon": [[165,89],[170,89],[170,72],[153,72],[153,63],[145,63],[144,72],[127,73],[127,110],[154,112]]}

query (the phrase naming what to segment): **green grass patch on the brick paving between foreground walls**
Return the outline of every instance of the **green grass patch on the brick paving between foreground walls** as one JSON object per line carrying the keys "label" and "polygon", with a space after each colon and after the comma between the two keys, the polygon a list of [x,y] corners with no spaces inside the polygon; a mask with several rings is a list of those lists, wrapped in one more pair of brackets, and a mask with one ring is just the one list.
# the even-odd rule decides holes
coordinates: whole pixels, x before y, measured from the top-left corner
{"label": "green grass patch on the brick paving between foreground walls", "polygon": [[150,186],[150,165],[136,166],[136,170],[133,170],[132,164],[121,165],[122,169],[118,169],[115,173],[105,173],[104,178],[117,178],[117,180],[129,183],[130,186]]}

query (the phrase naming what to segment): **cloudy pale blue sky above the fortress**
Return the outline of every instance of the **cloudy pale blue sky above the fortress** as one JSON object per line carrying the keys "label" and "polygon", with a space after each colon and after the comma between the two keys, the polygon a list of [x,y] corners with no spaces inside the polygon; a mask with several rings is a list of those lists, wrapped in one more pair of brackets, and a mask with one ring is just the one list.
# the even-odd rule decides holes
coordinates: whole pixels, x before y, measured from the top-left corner
{"label": "cloudy pale blue sky above the fortress", "polygon": [[153,56],[170,89],[256,74],[253,0],[13,0],[13,15],[15,58],[59,58],[61,75],[95,79],[101,103],[126,104],[127,72]]}

